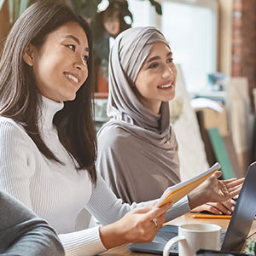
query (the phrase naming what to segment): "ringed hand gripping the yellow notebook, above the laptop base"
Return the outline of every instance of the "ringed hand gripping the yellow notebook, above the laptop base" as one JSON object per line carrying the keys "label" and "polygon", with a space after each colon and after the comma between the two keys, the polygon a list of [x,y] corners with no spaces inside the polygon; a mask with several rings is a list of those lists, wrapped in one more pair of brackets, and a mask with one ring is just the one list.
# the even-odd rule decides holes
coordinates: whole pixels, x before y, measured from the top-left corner
{"label": "ringed hand gripping the yellow notebook, above the laptop base", "polygon": [[172,203],[156,208],[153,204],[138,207],[117,222],[102,226],[100,236],[103,245],[109,249],[129,242],[152,241],[166,220],[166,211],[171,207]]}

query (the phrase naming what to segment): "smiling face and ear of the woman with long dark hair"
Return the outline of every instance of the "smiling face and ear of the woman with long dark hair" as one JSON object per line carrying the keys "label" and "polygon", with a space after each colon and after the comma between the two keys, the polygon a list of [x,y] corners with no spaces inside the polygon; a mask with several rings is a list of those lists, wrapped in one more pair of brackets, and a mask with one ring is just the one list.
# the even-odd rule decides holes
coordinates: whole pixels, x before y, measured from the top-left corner
{"label": "smiling face and ear of the woman with long dark hair", "polygon": [[55,102],[72,101],[88,77],[89,46],[82,26],[67,22],[37,48],[29,44],[23,60],[32,67],[38,89]]}

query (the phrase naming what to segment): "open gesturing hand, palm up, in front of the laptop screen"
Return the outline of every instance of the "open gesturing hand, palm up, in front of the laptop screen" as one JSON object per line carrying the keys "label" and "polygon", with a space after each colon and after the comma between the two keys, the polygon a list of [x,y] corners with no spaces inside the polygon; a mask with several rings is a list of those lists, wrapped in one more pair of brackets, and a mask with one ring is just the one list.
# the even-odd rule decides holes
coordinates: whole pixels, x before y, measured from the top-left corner
{"label": "open gesturing hand, palm up, in front of the laptop screen", "polygon": [[218,180],[221,174],[220,171],[215,172],[204,183],[189,193],[190,208],[193,209],[207,202],[228,201],[240,193],[244,178]]}

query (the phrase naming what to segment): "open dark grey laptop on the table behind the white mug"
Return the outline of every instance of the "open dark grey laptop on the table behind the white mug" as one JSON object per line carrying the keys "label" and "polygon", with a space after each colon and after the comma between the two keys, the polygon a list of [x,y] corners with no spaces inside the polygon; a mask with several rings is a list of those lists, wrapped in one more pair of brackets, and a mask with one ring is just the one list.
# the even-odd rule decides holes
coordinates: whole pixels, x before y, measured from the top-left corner
{"label": "open dark grey laptop on the table behind the white mug", "polygon": [[[226,231],[221,231],[221,251],[240,252],[251,230],[256,213],[256,162],[248,167],[247,175],[236,201],[236,207]],[[166,225],[148,243],[132,243],[128,246],[131,252],[162,254],[166,242],[177,236],[177,226]],[[173,245],[170,255],[177,255],[177,244]]]}

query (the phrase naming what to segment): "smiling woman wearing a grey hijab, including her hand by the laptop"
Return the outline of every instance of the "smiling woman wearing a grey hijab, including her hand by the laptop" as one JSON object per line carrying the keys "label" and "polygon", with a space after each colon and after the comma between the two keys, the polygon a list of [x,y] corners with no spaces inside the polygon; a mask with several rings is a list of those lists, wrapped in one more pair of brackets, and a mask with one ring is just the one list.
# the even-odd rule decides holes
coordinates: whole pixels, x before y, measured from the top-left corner
{"label": "smiling woman wearing a grey hijab, including her hand by the laptop", "polygon": [[[125,202],[158,198],[180,182],[168,107],[176,77],[172,50],[154,27],[131,28],[116,38],[109,58],[110,120],[98,133],[96,167]],[[201,210],[230,213],[214,206]],[[233,204],[226,206],[231,210]]]}

